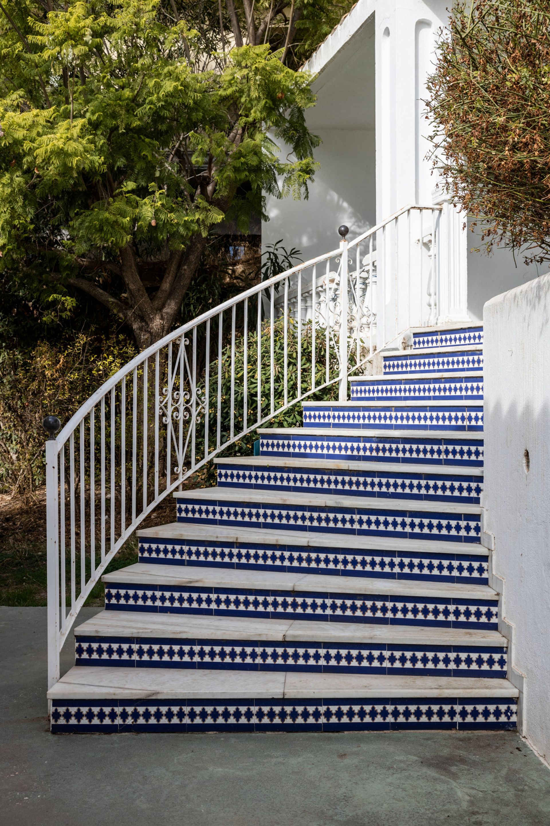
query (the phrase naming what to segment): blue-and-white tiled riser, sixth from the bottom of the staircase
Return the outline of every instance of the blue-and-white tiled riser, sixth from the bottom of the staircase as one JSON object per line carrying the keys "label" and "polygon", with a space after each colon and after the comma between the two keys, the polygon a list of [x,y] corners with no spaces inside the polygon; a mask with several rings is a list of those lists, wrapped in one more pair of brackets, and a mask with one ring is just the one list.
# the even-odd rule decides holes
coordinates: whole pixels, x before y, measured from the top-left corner
{"label": "blue-and-white tiled riser, sixth from the bottom of the staircase", "polygon": [[379,499],[468,502],[478,504],[482,477],[379,471],[313,471],[308,468],[264,468],[258,465],[218,465],[218,486],[249,491],[323,492]]}

